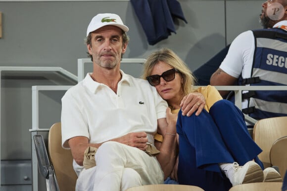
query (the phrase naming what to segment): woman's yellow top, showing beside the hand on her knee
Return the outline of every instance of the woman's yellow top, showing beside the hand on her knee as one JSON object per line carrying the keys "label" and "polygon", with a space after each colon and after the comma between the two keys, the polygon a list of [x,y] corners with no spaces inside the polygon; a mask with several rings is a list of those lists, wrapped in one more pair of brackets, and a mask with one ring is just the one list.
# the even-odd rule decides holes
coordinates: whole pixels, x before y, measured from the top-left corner
{"label": "woman's yellow top, showing beside the hand on her knee", "polygon": [[[199,88],[195,89],[193,92],[199,92],[199,93],[201,93],[204,96],[205,102],[206,102],[206,105],[204,106],[204,109],[207,112],[209,112],[211,106],[213,106],[213,104],[215,102],[217,102],[219,100],[222,100],[222,97],[219,94],[218,90],[214,86],[211,86],[211,85],[207,85],[207,86],[204,86],[204,87],[199,87]],[[180,109],[172,110],[171,112],[173,114],[175,114],[175,113],[179,113],[179,110]],[[155,134],[154,135],[154,139],[159,141],[159,142],[162,142],[163,141],[163,136],[160,135],[160,134]]]}

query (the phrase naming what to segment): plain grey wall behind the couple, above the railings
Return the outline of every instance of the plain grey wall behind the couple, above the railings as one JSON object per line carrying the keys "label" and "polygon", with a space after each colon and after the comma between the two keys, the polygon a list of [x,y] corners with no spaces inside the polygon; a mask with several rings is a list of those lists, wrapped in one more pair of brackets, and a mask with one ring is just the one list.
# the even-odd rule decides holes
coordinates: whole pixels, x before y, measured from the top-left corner
{"label": "plain grey wall behind the couple, above the railings", "polygon": [[177,34],[154,46],[148,45],[128,0],[0,2],[0,66],[60,66],[77,75],[76,60],[86,57],[87,25],[96,13],[113,12],[131,29],[125,58],[144,58],[169,47],[194,70],[240,32],[260,28],[261,2],[180,0],[188,24],[177,20]]}

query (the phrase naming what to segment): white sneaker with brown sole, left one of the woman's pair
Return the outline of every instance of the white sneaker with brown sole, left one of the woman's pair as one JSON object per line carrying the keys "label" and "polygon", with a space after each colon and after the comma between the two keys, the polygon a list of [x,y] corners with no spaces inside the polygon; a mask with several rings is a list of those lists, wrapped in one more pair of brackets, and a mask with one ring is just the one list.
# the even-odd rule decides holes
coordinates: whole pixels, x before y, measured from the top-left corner
{"label": "white sneaker with brown sole, left one of the woman's pair", "polygon": [[233,186],[263,181],[263,171],[256,162],[248,161],[243,166],[234,162],[233,165],[234,174],[230,181]]}

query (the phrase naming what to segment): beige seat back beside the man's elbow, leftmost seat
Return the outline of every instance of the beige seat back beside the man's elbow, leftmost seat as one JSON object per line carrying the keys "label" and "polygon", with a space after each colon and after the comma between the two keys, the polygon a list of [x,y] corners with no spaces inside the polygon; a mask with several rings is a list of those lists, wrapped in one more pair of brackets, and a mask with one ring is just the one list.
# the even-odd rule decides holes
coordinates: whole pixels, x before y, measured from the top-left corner
{"label": "beige seat back beside the man's elbow, leftmost seat", "polygon": [[75,191],[77,175],[73,169],[71,150],[62,148],[61,123],[54,123],[48,135],[48,153],[60,191]]}

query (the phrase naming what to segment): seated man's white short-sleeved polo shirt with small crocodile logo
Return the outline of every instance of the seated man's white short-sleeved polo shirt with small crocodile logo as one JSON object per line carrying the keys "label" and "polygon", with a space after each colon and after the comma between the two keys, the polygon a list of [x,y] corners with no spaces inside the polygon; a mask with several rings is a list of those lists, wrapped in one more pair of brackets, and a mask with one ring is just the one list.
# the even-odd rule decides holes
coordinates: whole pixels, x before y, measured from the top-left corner
{"label": "seated man's white short-sleeved polo shirt with small crocodile logo", "polygon": [[[157,119],[166,117],[168,107],[147,80],[121,71],[117,93],[98,83],[87,74],[85,79],[70,88],[62,98],[62,146],[68,140],[84,136],[90,143],[102,143],[129,132],[146,132],[153,143]],[[74,169],[82,166],[73,162]]]}

